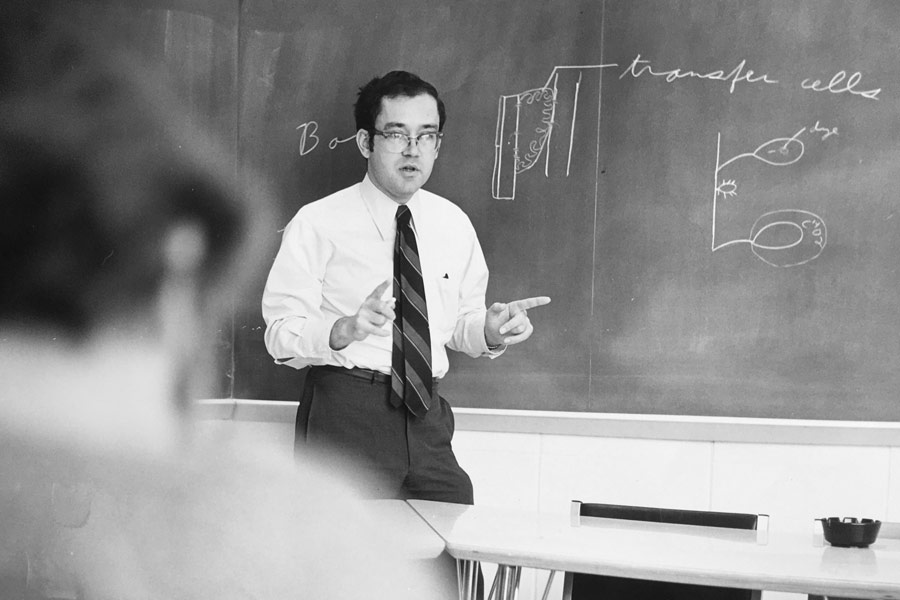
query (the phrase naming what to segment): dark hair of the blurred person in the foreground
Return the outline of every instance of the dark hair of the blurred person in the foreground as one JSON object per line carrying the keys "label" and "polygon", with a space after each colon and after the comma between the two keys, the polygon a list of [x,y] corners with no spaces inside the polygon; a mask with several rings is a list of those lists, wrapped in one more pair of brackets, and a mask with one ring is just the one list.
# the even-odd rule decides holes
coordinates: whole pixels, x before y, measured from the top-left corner
{"label": "dark hair of the blurred person in the foreground", "polygon": [[50,3],[13,4],[0,24],[0,321],[82,338],[146,314],[181,223],[205,237],[201,292],[233,283],[271,213],[259,199],[251,210],[234,163],[217,160],[229,153],[148,69],[90,47]]}

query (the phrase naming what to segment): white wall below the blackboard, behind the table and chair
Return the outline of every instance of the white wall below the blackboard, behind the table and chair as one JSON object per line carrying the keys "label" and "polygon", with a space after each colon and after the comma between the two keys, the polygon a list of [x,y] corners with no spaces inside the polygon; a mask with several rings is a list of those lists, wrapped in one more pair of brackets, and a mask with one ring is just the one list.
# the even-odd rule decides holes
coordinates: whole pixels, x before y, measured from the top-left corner
{"label": "white wall below the blackboard, behind the table and chair", "polygon": [[[233,427],[289,454],[295,407],[229,400],[207,402],[201,414],[210,419],[207,429]],[[768,514],[770,530],[801,532],[812,532],[813,519],[823,516],[900,520],[895,426],[614,415],[598,425],[598,416],[579,414],[563,427],[559,413],[505,412],[456,410],[454,448],[479,504],[567,512],[580,499],[746,511]],[[656,437],[643,435],[642,423]],[[606,431],[598,434],[600,427]],[[671,439],[684,432],[695,439]],[[486,572],[491,575],[490,567]],[[547,572],[524,572],[520,598],[540,598],[546,579]],[[550,597],[561,591],[557,576]]]}

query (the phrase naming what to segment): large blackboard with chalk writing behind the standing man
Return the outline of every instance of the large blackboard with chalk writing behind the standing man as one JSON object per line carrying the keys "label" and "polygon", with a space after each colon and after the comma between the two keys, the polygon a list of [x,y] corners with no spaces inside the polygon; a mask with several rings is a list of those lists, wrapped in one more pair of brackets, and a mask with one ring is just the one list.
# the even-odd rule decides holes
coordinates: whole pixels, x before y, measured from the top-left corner
{"label": "large blackboard with chalk writing behind the standing man", "polygon": [[[361,84],[441,91],[426,187],[472,218],[489,302],[553,297],[506,356],[452,356],[455,406],[900,419],[900,4],[181,4],[167,18],[233,34],[208,51],[234,59],[230,134],[281,225],[364,174]],[[295,400],[265,276],[235,300],[223,387]]]}

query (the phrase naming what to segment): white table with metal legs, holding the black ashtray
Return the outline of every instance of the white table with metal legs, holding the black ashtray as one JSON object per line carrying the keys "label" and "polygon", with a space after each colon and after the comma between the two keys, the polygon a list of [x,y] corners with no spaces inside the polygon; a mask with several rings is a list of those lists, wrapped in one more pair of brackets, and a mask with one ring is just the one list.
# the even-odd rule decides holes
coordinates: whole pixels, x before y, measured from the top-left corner
{"label": "white table with metal legs, holding the black ashtray", "polygon": [[522,567],[759,590],[900,598],[900,539],[833,548],[821,533],[762,533],[410,500],[457,559],[462,600],[478,561],[499,565],[500,598]]}

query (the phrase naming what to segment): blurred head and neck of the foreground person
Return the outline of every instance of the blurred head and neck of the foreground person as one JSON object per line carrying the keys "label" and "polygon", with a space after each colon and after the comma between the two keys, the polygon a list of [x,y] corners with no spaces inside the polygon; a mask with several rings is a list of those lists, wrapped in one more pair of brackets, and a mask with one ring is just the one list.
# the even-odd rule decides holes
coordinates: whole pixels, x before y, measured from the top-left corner
{"label": "blurred head and neck of the foreground person", "polygon": [[0,8],[2,351],[117,350],[132,390],[165,379],[183,402],[204,389],[223,309],[259,268],[249,242],[271,203],[242,192],[232,154],[188,125],[156,73],[60,23],[66,4]]}

